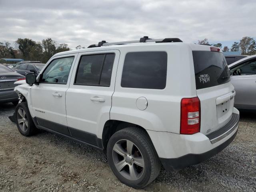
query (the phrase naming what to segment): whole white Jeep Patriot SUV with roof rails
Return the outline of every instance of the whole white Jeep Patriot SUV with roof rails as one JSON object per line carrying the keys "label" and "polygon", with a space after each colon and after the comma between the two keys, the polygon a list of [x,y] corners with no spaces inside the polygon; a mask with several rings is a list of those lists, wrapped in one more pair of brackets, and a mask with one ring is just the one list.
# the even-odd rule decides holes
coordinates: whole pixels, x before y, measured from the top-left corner
{"label": "whole white Jeep Patriot SUV with roof rails", "polygon": [[133,188],[152,182],[161,166],[180,170],[210,158],[238,131],[222,51],[178,38],[61,52],[15,90],[22,135],[43,129],[98,148]]}

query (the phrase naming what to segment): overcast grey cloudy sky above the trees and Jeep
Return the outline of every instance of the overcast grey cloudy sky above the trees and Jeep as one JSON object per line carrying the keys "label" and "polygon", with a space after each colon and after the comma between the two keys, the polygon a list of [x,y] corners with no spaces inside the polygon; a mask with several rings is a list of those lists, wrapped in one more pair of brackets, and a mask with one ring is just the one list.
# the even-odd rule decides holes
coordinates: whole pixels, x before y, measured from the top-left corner
{"label": "overcast grey cloudy sky above the trees and Jeep", "polygon": [[178,37],[231,46],[256,38],[255,0],[0,0],[0,41],[52,38],[70,48]]}

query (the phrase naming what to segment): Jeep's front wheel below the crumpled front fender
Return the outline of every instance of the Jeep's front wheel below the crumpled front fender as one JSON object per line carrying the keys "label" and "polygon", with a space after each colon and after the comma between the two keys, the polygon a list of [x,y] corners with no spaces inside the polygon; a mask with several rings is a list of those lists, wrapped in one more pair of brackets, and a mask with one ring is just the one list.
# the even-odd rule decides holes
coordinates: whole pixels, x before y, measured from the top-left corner
{"label": "Jeep's front wheel below the crumpled front fender", "polygon": [[15,121],[20,134],[24,136],[31,136],[38,131],[30,115],[27,102],[21,102],[16,106]]}

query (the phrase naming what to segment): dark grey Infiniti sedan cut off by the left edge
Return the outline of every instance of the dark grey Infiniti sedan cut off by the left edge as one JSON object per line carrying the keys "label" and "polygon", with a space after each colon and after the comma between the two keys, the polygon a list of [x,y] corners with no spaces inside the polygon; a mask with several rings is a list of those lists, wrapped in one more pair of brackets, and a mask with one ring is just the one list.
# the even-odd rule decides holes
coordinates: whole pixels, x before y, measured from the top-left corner
{"label": "dark grey Infiniti sedan cut off by the left edge", "polygon": [[12,69],[0,64],[0,104],[12,102],[18,104],[18,94],[14,91],[17,80],[23,80],[25,76],[18,74]]}

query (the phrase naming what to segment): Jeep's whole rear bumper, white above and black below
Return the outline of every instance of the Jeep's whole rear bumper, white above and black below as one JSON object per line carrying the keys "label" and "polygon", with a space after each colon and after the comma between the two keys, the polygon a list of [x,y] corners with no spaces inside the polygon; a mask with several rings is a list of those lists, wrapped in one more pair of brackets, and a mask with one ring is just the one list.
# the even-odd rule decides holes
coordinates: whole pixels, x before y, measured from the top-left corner
{"label": "Jeep's whole rear bumper, white above and black below", "polygon": [[236,137],[239,111],[234,108],[230,121],[209,135],[201,132],[192,135],[147,130],[156,152],[166,170],[180,170],[214,156]]}

